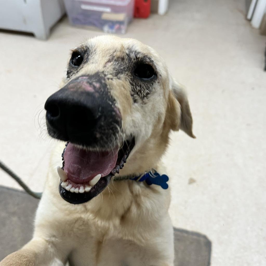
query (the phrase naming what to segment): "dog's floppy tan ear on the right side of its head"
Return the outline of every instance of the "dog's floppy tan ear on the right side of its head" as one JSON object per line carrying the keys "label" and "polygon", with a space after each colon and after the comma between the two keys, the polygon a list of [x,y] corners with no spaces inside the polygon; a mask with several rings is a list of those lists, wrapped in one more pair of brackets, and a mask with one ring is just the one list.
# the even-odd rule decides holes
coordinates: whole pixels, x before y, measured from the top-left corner
{"label": "dog's floppy tan ear on the right side of its head", "polygon": [[174,131],[183,130],[192,138],[196,138],[192,132],[193,119],[189,108],[188,98],[184,88],[173,81],[168,99],[168,117],[171,120],[171,128]]}

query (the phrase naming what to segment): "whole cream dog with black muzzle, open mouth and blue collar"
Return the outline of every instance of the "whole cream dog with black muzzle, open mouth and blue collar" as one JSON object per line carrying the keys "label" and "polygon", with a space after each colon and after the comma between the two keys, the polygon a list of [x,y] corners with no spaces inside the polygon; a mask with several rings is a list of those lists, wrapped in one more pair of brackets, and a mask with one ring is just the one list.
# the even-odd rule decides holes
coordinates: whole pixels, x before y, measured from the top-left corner
{"label": "whole cream dog with black muzzle, open mouth and blue collar", "polygon": [[108,35],[72,51],[60,87],[45,103],[61,141],[33,238],[0,265],[173,266],[160,159],[171,130],[194,138],[184,89],[152,48]]}

